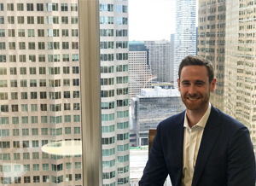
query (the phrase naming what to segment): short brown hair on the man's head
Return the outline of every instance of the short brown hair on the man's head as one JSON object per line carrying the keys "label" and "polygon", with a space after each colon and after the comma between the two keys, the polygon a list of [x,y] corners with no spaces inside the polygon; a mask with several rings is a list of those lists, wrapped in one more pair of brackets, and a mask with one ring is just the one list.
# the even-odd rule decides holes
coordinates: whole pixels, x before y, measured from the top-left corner
{"label": "short brown hair on the man's head", "polygon": [[181,61],[181,63],[179,64],[179,68],[178,68],[178,78],[180,78],[180,74],[181,74],[183,67],[192,66],[192,65],[207,67],[209,83],[211,84],[213,76],[214,76],[214,67],[212,65],[212,62],[207,60],[206,58],[202,58],[202,57],[199,57],[196,55],[188,55]]}

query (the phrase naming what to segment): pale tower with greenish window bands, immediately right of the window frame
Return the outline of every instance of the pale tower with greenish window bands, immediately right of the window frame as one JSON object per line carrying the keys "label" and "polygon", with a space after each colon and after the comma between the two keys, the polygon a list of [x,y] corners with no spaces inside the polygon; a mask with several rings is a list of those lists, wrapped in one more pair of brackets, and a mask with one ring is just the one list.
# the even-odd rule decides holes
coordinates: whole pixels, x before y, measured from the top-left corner
{"label": "pale tower with greenish window bands, immediately right of the window frame", "polygon": [[102,177],[129,183],[128,1],[100,0]]}

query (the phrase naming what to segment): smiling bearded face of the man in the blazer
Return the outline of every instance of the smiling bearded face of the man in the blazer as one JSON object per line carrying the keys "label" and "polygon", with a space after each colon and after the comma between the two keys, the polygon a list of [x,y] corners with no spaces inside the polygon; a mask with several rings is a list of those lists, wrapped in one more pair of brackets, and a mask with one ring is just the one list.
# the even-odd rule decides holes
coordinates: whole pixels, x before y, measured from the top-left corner
{"label": "smiling bearded face of the man in the blazer", "polygon": [[215,88],[216,78],[209,84],[207,67],[185,66],[177,84],[186,108],[204,112],[208,108],[210,92]]}

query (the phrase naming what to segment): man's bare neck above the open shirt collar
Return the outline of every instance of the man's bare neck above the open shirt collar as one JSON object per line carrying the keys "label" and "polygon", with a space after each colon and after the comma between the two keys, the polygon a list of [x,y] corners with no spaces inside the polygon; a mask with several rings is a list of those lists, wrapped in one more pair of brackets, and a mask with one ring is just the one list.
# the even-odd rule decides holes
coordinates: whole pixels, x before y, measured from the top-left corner
{"label": "man's bare neck above the open shirt collar", "polygon": [[196,125],[201,120],[203,115],[207,112],[207,108],[209,107],[209,102],[206,105],[207,107],[201,108],[200,110],[187,109],[187,119],[188,119],[190,128]]}

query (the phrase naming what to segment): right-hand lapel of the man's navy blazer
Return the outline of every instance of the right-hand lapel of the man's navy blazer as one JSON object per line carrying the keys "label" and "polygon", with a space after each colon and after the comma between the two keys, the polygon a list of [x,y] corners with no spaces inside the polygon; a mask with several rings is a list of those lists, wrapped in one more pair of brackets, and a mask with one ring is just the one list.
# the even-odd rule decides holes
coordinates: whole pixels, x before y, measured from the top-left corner
{"label": "right-hand lapel of the man's navy blazer", "polygon": [[207,164],[207,160],[212,152],[212,147],[218,139],[220,134],[220,127],[218,127],[218,125],[220,125],[218,110],[212,107],[209,119],[207,120],[207,125],[201,138],[201,145],[195,163],[192,186],[196,186],[199,182],[201,174]]}

